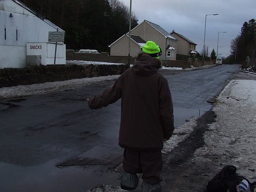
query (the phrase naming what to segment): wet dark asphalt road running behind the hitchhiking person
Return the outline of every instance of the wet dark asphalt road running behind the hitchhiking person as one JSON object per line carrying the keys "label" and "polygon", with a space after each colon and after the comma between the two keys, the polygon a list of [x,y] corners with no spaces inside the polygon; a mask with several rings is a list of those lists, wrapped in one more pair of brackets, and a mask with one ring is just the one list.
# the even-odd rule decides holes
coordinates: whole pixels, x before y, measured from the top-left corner
{"label": "wet dark asphalt road running behind the hitchhiking person", "polygon": [[[211,108],[239,65],[173,74],[169,82],[175,125]],[[45,95],[2,99],[0,191],[86,191],[98,183],[118,185],[120,100],[90,110],[86,99],[113,82]],[[0,108],[1,109],[1,108]]]}

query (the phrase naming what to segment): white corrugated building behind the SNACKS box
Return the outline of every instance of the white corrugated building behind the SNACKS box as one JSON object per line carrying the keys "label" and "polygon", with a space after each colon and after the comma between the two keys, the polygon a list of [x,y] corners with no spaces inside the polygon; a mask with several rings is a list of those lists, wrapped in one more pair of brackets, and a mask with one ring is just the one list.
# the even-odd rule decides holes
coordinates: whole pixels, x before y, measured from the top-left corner
{"label": "white corrugated building behind the SNACKS box", "polygon": [[28,42],[47,42],[50,31],[63,31],[17,0],[0,1],[0,24],[2,69],[26,67]]}

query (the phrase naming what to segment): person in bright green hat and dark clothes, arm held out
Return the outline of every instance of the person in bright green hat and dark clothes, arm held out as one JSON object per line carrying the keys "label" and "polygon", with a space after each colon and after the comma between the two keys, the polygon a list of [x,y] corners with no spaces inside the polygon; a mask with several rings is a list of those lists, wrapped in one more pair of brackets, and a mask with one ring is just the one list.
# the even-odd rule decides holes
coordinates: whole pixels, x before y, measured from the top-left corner
{"label": "person in bright green hat and dark clothes, arm held out", "polygon": [[142,192],[161,191],[163,142],[175,129],[173,102],[168,82],[158,73],[162,54],[159,46],[147,41],[133,67],[112,87],[89,98],[91,109],[108,106],[121,98],[119,145],[124,148],[120,188],[133,190],[142,174]]}

